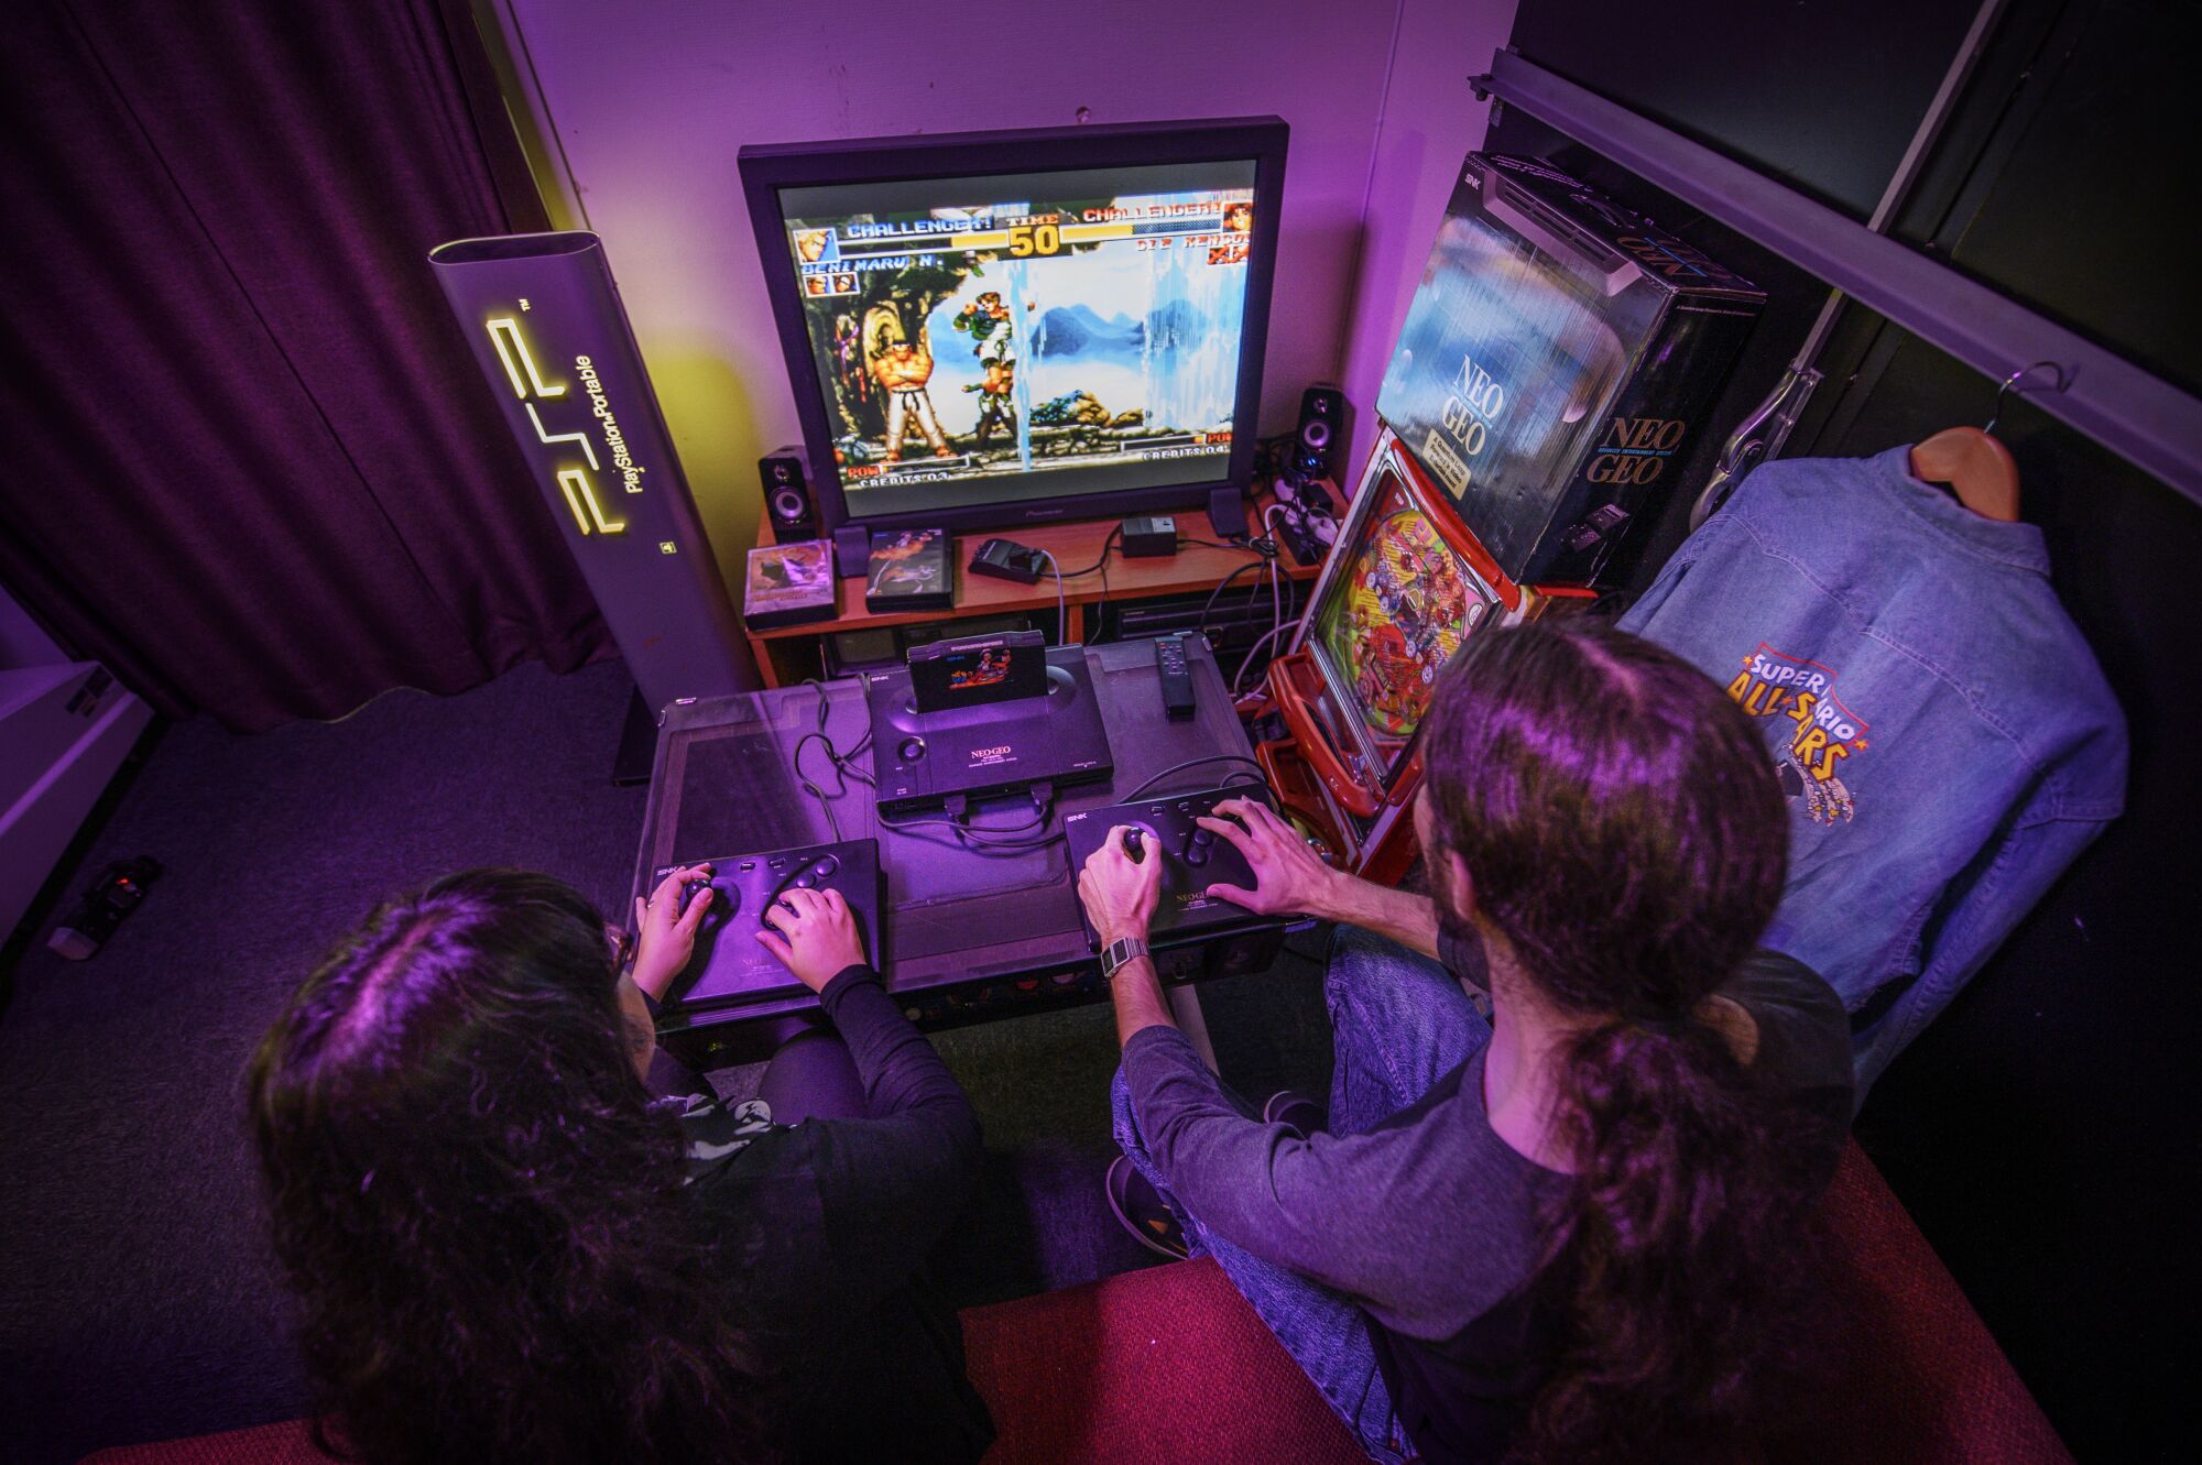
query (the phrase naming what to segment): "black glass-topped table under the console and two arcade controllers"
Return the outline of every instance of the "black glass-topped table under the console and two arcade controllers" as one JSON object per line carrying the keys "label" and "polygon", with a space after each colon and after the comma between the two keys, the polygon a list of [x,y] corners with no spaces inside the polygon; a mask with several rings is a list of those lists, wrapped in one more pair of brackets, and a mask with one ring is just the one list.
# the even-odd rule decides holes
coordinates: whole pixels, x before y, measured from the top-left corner
{"label": "black glass-topped table under the console and two arcade controllers", "polygon": [[[1198,691],[1191,719],[1169,722],[1154,671],[1154,642],[1088,647],[1088,669],[1108,726],[1114,776],[1057,790],[1044,831],[1061,816],[1141,794],[1218,787],[1246,776],[1253,748],[1209,647],[1187,638]],[[1035,849],[973,849],[949,829],[894,829],[879,820],[872,790],[839,779],[826,746],[863,743],[870,728],[863,682],[841,678],[676,702],[658,730],[650,812],[634,862],[634,889],[665,864],[727,853],[764,853],[824,840],[879,840],[887,930],[887,988],[920,1027],[1015,1016],[1099,1001],[1101,970],[1079,926],[1072,871],[1061,838]],[[1198,763],[1196,763],[1198,759]],[[1180,772],[1165,772],[1193,763]],[[870,750],[850,759],[870,772]],[[1158,774],[1165,774],[1158,779]],[[821,790],[819,798],[804,783]],[[1152,781],[1152,787],[1143,787]],[[1011,827],[1033,814],[1024,794],[975,801],[975,825]],[[1042,831],[1035,831],[1042,834]],[[1191,983],[1266,966],[1282,933],[1262,930],[1160,959],[1169,983]],[[667,1007],[658,1032],[696,1062],[733,1062],[768,1051],[791,1014],[815,1012],[804,992],[709,1012]],[[1180,1005],[1198,1021],[1198,1010]]]}

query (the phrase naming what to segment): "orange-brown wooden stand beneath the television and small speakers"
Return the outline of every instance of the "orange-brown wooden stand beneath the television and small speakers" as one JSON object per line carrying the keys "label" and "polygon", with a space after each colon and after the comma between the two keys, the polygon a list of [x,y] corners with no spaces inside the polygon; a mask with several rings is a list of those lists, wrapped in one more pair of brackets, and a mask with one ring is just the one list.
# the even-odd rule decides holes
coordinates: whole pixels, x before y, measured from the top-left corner
{"label": "orange-brown wooden stand beneath the television and small speakers", "polygon": [[[1251,515],[1255,524],[1260,524],[1262,506],[1266,504],[1268,499],[1255,506]],[[1222,537],[1216,535],[1207,513],[1198,508],[1178,508],[1169,513],[1178,521],[1178,539],[1207,539],[1209,543],[1222,543]],[[837,583],[839,614],[832,620],[784,625],[773,627],[771,631],[751,631],[744,627],[742,634],[749,638],[749,651],[757,658],[757,671],[764,675],[764,684],[788,686],[799,684],[804,678],[821,675],[819,640],[839,631],[934,625],[940,620],[964,620],[975,616],[1046,614],[1055,609],[1055,576],[1042,574],[1037,583],[1020,585],[1015,581],[995,581],[984,574],[971,574],[971,554],[978,546],[1000,537],[1028,543],[1035,550],[1048,550],[1068,576],[1101,559],[1101,546],[1108,543],[1110,532],[1114,532],[1119,524],[1123,524],[1121,517],[1066,519],[1064,524],[1024,524],[1006,530],[973,530],[969,535],[956,535],[953,609],[874,616],[863,607],[863,576],[857,574],[843,576]],[[775,543],[773,526],[762,513],[757,519],[757,543]],[[1123,550],[1112,550],[1105,576],[1079,574],[1077,579],[1064,581],[1064,616],[1070,620],[1070,625],[1064,627],[1064,640],[1088,640],[1086,612],[1101,601],[1152,601],[1158,596],[1182,596],[1216,590],[1218,581],[1244,563],[1249,563],[1249,550],[1211,550],[1198,543],[1182,546],[1176,554],[1156,559],[1125,559]],[[1277,557],[1277,568],[1293,581],[1312,581],[1321,570],[1319,565],[1301,565],[1293,559],[1290,550],[1284,550]],[[1246,579],[1257,576],[1242,576],[1242,583]],[[740,587],[735,590],[740,594]]]}

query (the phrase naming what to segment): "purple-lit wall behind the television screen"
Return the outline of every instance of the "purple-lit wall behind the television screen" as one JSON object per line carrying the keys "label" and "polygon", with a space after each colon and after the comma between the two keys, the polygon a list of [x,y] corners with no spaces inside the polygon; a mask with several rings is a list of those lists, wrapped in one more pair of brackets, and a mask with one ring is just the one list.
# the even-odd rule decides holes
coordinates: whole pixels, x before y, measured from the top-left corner
{"label": "purple-lit wall behind the television screen", "polygon": [[1356,458],[1515,0],[495,0],[603,235],[705,526],[749,546],[755,460],[799,438],[733,167],[742,143],[1277,112],[1293,125],[1262,429],[1341,381]]}

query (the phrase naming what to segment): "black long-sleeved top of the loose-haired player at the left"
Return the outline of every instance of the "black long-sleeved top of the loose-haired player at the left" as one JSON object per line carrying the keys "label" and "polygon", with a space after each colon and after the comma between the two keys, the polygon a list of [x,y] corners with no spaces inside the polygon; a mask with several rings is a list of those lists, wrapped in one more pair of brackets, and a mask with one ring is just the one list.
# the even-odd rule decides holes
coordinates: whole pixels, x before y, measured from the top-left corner
{"label": "black long-sleeved top of the loose-haired player at the left", "polygon": [[689,1190],[720,1219],[799,1458],[962,1465],[993,1421],[923,1274],[971,1199],[978,1115],[872,968],[843,970],[819,1003],[857,1060],[865,1115],[784,1126],[757,1104],[678,1100]]}

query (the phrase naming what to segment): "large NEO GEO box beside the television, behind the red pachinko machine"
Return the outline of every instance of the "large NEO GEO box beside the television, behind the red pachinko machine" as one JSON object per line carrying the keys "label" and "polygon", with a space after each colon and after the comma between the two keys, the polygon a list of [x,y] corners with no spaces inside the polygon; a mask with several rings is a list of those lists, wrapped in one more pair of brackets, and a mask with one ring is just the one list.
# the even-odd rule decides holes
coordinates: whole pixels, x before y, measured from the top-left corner
{"label": "large NEO GEO box beside the television, behind the red pachinko machine", "polygon": [[1596,585],[1766,295],[1537,158],[1471,152],[1376,398],[1515,583]]}

